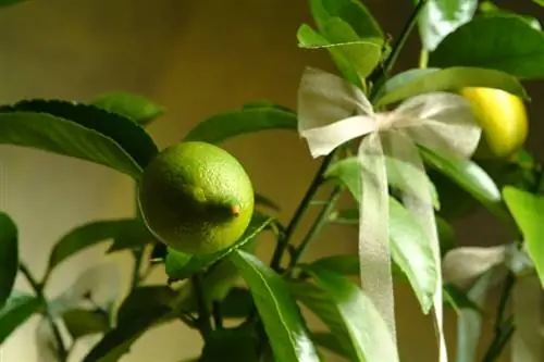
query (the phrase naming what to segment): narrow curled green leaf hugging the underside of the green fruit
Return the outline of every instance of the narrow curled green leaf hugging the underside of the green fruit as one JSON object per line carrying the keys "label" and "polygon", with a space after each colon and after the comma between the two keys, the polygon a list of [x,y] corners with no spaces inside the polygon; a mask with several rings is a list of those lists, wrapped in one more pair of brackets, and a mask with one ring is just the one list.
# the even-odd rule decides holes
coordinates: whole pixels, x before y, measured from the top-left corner
{"label": "narrow curled green leaf hugging the underside of the green fruit", "polygon": [[225,258],[234,250],[242,248],[247,242],[254,240],[272,222],[271,217],[259,213],[254,213],[251,222],[244,235],[231,247],[214,252],[209,255],[187,255],[183,252],[169,248],[166,254],[166,274],[171,280],[181,280],[203,271],[217,261]]}

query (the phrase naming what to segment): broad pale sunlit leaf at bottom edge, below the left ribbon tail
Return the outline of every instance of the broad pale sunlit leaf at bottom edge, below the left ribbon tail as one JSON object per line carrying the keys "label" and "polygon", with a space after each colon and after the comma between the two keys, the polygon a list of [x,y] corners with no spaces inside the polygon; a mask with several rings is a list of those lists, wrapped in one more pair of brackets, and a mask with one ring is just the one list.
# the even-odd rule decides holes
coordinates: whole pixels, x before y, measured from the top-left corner
{"label": "broad pale sunlit leaf at bottom edge, below the left ribbon tail", "polygon": [[[364,292],[346,277],[306,267],[316,285],[292,283],[292,292],[336,336],[350,361],[392,361],[395,350],[385,322]],[[357,315],[357,317],[354,317]]]}

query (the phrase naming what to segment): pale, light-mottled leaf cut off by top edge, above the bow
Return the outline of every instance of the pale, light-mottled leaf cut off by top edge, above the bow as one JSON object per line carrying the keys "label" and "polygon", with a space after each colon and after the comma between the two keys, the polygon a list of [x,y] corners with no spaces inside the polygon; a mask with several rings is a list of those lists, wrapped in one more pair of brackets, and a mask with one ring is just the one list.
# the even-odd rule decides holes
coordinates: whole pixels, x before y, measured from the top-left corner
{"label": "pale, light-mottled leaf cut off by top edge, above the bow", "polygon": [[470,22],[477,9],[478,0],[428,1],[418,18],[423,48],[433,51],[448,34]]}

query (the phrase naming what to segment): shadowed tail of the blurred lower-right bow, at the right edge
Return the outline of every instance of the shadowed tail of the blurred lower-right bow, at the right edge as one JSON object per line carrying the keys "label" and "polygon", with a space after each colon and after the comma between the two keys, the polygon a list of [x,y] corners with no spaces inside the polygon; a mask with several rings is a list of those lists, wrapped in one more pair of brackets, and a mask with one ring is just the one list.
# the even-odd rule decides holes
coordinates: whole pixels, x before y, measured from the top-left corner
{"label": "shadowed tail of the blurred lower-right bow, at the right edge", "polygon": [[542,362],[542,287],[539,277],[521,276],[514,287],[512,362]]}

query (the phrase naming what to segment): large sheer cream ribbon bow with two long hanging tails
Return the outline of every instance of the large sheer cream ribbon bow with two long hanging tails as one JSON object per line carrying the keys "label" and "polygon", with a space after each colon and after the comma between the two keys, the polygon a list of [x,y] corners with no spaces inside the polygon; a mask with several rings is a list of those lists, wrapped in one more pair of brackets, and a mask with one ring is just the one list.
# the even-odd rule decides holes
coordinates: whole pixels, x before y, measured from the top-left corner
{"label": "large sheer cream ribbon bow with two long hanging tails", "polygon": [[[441,253],[433,197],[417,143],[441,154],[469,158],[481,129],[470,104],[460,96],[433,92],[413,97],[391,112],[375,113],[361,89],[314,68],[307,68],[298,90],[298,132],[313,158],[360,136],[362,172],[359,259],[361,285],[387,323],[396,345],[393,277],[388,246],[388,190],[385,155],[410,167],[396,167],[404,179],[403,203],[429,237],[435,265]],[[411,168],[407,172],[407,168]],[[440,361],[447,361],[442,323],[442,277],[438,273],[434,302]],[[398,361],[398,351],[395,351]],[[395,361],[388,361],[395,362]]]}

